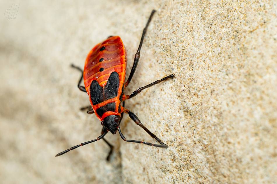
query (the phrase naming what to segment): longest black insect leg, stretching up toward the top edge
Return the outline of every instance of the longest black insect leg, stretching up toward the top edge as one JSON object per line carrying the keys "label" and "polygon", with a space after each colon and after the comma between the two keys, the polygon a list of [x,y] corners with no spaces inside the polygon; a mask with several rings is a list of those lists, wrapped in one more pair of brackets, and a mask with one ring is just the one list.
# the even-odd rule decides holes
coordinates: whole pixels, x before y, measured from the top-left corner
{"label": "longest black insect leg, stretching up toward the top edge", "polygon": [[131,70],[131,72],[130,72],[129,78],[128,78],[128,80],[126,81],[126,83],[124,84],[125,87],[127,87],[127,85],[128,85],[128,84],[130,83],[130,81],[132,80],[133,75],[134,75],[134,73],[135,73],[135,71],[136,71],[136,67],[138,66],[138,60],[139,60],[139,58],[140,58],[140,52],[141,52],[141,46],[142,46],[143,38],[144,38],[144,35],[145,35],[145,33],[146,33],[146,30],[147,30],[147,27],[148,27],[148,25],[149,25],[149,23],[150,23],[150,21],[151,21],[151,19],[152,19],[152,17],[153,17],[153,14],[155,13],[155,11],[156,11],[156,10],[152,10],[152,13],[151,13],[151,15],[150,15],[150,17],[149,17],[149,19],[148,19],[148,22],[147,22],[145,28],[143,29],[142,36],[141,36],[141,42],[139,43],[138,51],[137,51],[136,54],[135,54],[134,64],[133,64],[132,70]]}

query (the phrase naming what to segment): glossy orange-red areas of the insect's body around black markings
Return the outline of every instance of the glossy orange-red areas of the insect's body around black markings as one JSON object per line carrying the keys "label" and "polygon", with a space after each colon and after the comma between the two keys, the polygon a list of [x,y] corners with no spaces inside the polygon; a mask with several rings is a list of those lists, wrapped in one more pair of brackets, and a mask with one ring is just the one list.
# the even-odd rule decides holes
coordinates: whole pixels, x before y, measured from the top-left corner
{"label": "glossy orange-red areas of the insect's body around black markings", "polygon": [[[95,112],[95,115],[100,121],[109,115],[120,115],[121,109],[118,109],[120,104],[120,94],[122,87],[125,82],[125,73],[126,73],[126,64],[127,64],[127,53],[124,47],[124,44],[119,36],[109,37],[102,43],[97,44],[88,54],[85,61],[84,68],[84,83],[87,94],[90,97],[90,84],[92,81],[96,80],[101,87],[105,86],[109,76],[112,72],[117,72],[120,78],[120,86],[118,88],[118,96],[106,100],[97,105],[93,105],[91,98],[90,103]],[[115,102],[116,110],[105,112],[102,116],[97,114],[97,109],[108,104]]]}

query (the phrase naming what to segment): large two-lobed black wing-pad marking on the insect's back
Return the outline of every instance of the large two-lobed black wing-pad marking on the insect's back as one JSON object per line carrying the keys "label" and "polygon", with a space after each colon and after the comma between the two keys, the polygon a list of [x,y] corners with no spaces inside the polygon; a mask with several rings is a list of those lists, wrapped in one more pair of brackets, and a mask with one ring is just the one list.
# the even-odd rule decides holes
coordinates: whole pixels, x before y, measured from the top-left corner
{"label": "large two-lobed black wing-pad marking on the insect's back", "polygon": [[93,105],[104,102],[108,99],[118,96],[120,85],[119,75],[116,72],[111,73],[107,84],[101,87],[96,80],[90,84],[90,98]]}

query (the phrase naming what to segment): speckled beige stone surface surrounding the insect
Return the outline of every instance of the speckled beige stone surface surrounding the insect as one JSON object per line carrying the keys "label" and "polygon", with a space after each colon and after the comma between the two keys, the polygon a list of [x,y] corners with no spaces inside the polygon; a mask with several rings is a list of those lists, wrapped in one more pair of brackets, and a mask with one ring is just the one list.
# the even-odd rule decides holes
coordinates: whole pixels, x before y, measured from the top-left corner
{"label": "speckled beige stone surface surrounding the insect", "polygon": [[[0,2],[0,183],[277,183],[276,1]],[[127,76],[156,9],[126,101],[168,149],[124,142],[80,111],[77,83],[97,43],[119,35]],[[157,142],[125,115],[127,139]]]}

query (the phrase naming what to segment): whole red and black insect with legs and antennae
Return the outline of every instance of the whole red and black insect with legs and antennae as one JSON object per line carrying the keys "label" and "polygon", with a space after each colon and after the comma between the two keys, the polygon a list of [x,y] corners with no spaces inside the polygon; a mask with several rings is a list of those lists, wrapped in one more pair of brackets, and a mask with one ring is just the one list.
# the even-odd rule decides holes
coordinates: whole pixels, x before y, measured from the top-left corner
{"label": "whole red and black insect with legs and antennae", "polygon": [[[58,153],[56,156],[61,156],[64,153],[69,152],[70,150],[76,149],[80,146],[89,144],[91,142],[98,141],[102,139],[108,133],[108,131],[110,131],[112,134],[115,134],[118,131],[120,137],[127,142],[143,143],[150,146],[162,148],[168,147],[155,134],[153,134],[145,126],[143,126],[141,121],[133,112],[124,108],[124,101],[126,99],[130,99],[136,96],[142,90],[152,85],[158,84],[162,81],[174,77],[174,74],[171,74],[165,78],[162,78],[161,80],[157,80],[144,87],[139,87],[131,95],[124,94],[124,91],[126,87],[129,85],[138,65],[143,38],[146,33],[148,24],[151,21],[151,18],[154,13],[155,10],[152,11],[148,19],[148,22],[145,28],[143,29],[141,42],[139,44],[138,51],[135,54],[134,64],[130,72],[129,78],[126,82],[125,74],[127,64],[127,53],[125,46],[123,45],[123,42],[119,36],[110,36],[104,42],[97,44],[87,56],[84,71],[79,67],[72,65],[72,67],[77,68],[83,73],[78,83],[78,88],[83,92],[87,92],[87,94],[89,95],[92,109],[88,110],[87,113],[94,113],[97,116],[97,118],[101,121],[101,125],[103,126],[102,135],[97,137],[97,139],[71,147],[70,149]],[[85,86],[80,85],[83,78]],[[123,102],[122,106],[120,105],[121,102]],[[123,113],[127,113],[129,117],[137,125],[143,128],[143,130],[145,130],[151,137],[156,139],[160,144],[152,144],[137,140],[127,140],[120,130],[120,122],[123,117]],[[107,160],[109,160],[109,157],[113,151],[113,146],[104,138],[103,140],[111,148],[111,151],[107,157]]]}

